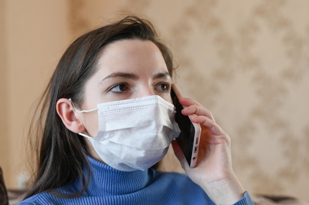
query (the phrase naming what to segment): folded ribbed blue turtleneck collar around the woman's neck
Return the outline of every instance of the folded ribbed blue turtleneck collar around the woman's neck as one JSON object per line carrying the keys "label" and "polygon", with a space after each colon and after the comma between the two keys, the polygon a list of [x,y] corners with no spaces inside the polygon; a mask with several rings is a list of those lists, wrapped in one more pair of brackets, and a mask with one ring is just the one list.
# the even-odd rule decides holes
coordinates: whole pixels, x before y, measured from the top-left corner
{"label": "folded ribbed blue turtleneck collar around the woman's neck", "polygon": [[93,173],[86,193],[90,196],[124,195],[143,189],[153,182],[155,171],[119,171],[88,157]]}

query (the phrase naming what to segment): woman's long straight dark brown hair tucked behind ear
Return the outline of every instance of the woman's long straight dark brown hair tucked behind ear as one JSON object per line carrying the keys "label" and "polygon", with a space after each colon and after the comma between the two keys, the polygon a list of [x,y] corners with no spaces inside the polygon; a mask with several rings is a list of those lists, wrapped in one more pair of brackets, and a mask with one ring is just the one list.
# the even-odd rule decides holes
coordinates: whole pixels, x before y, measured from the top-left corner
{"label": "woman's long straight dark brown hair tucked behind ear", "polygon": [[[81,105],[84,101],[84,85],[96,72],[101,51],[108,44],[124,39],[154,42],[172,75],[172,55],[158,40],[155,29],[148,20],[127,16],[78,37],[60,59],[40,99],[41,109],[36,112],[37,120],[32,122],[29,130],[29,136],[35,136],[35,143],[39,145],[34,184],[26,198],[44,191],[62,197],[77,196],[86,189],[91,168],[86,158],[84,139],[64,126],[56,112],[56,102],[60,98],[71,98],[75,104]],[[78,193],[63,196],[55,191],[78,178],[83,181],[83,189]]]}

